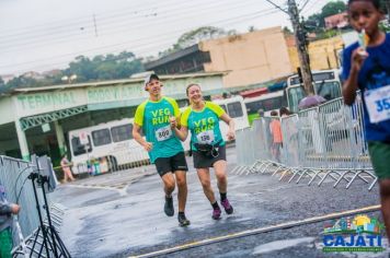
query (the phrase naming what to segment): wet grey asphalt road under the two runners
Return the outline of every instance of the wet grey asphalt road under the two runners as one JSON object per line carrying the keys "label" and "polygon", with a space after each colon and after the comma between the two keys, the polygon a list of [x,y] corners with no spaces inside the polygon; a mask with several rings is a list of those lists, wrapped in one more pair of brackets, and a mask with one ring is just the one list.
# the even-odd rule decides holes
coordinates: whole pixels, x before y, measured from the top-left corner
{"label": "wet grey asphalt road under the two runners", "polygon": [[[234,156],[236,149],[228,149],[229,171],[236,166]],[[191,160],[188,163],[192,166]],[[146,172],[135,168],[128,174],[88,178],[62,185],[55,192],[54,200],[68,207],[61,235],[74,257],[142,255],[245,230],[378,204],[377,187],[369,192],[363,181],[354,183],[346,190],[345,185],[334,189],[331,183],[317,187],[278,181],[266,174],[229,174],[228,195],[236,211],[214,221],[211,208],[192,169],[187,175],[186,211],[192,224],[183,228],[177,226],[175,216],[167,218],[162,212],[161,181],[157,174],[151,175],[152,171],[152,166],[148,166]],[[124,183],[126,187],[117,188]],[[316,223],[206,245],[167,257],[340,257],[322,253],[322,230],[323,223]]]}

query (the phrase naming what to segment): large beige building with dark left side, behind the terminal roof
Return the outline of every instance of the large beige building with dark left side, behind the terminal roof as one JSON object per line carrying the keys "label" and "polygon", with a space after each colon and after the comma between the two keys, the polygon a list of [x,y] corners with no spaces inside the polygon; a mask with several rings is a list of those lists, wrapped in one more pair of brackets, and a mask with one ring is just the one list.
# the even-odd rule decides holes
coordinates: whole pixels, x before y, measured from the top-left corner
{"label": "large beige building with dark left side, behind the terminal roof", "polygon": [[282,27],[200,42],[146,64],[160,74],[229,71],[225,87],[245,86],[291,73]]}

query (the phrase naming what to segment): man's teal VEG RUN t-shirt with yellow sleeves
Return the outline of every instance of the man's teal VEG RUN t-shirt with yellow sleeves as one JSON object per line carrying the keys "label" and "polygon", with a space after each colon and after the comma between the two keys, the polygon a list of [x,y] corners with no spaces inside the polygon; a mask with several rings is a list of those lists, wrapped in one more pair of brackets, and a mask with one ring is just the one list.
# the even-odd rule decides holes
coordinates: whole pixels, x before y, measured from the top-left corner
{"label": "man's teal VEG RUN t-shirt with yellow sleeves", "polygon": [[180,119],[179,105],[171,97],[162,97],[159,102],[148,99],[137,107],[134,122],[142,128],[146,140],[153,144],[149,152],[151,163],[158,157],[170,157],[184,151],[181,141],[171,130],[170,115]]}

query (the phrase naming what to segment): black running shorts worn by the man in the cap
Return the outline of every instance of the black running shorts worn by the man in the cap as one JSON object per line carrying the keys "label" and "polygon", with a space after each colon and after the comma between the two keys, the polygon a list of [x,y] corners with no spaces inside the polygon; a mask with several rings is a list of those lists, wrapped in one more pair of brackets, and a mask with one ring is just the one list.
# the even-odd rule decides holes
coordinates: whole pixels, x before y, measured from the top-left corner
{"label": "black running shorts worn by the man in the cap", "polygon": [[184,152],[179,152],[176,155],[170,157],[158,157],[154,161],[154,165],[161,177],[169,172],[188,171]]}

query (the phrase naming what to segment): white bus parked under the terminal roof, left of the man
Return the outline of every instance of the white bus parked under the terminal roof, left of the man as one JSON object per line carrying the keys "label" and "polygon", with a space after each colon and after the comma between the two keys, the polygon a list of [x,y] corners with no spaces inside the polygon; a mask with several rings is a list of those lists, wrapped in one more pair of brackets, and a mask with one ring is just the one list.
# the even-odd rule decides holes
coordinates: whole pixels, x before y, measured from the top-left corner
{"label": "white bus parked under the terminal roof, left of the man", "polygon": [[[69,131],[73,173],[97,174],[126,164],[147,164],[148,152],[133,139],[133,124],[134,118],[125,118]],[[183,148],[190,150],[190,138]]]}

